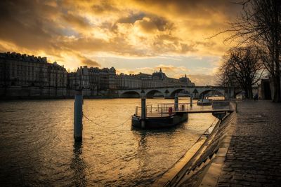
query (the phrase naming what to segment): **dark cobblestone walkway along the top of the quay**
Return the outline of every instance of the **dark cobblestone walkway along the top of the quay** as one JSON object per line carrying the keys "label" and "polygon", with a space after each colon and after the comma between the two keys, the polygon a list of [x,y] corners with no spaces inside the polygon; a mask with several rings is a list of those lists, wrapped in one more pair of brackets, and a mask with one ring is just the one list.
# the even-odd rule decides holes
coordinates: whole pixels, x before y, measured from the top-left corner
{"label": "dark cobblestone walkway along the top of the quay", "polygon": [[281,186],[281,104],[243,101],[218,186]]}

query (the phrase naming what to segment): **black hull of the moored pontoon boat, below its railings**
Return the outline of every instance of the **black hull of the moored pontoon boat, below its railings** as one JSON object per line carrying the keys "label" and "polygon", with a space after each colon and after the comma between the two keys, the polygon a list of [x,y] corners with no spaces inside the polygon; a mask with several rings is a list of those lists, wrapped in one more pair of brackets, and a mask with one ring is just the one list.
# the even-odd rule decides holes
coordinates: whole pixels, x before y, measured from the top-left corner
{"label": "black hull of the moored pontoon boat, below its railings", "polygon": [[[133,127],[141,128],[141,117],[132,116],[131,124]],[[179,113],[166,117],[145,118],[145,129],[161,129],[173,127],[178,123],[188,120],[188,113]]]}

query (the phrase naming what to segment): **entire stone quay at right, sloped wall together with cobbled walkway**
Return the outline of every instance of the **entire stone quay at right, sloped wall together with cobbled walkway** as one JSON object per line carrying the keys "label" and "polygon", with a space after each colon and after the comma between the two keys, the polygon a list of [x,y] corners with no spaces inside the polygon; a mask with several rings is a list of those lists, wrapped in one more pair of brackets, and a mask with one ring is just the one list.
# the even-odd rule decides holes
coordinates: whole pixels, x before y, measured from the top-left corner
{"label": "entire stone quay at right, sloped wall together with cobbled walkway", "polygon": [[155,186],[280,186],[280,119],[281,104],[239,102],[237,113],[218,123],[189,160],[171,168],[174,176],[167,177],[169,170],[165,183],[159,183],[162,176]]}

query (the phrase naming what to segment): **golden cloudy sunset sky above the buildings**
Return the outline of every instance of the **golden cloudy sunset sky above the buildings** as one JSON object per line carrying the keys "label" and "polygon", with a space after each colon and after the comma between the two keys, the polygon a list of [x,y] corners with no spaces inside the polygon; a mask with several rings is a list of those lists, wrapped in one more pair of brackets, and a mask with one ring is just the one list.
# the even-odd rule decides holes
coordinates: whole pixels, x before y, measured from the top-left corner
{"label": "golden cloudy sunset sky above the buildings", "polygon": [[241,7],[228,0],[1,0],[0,51],[47,57],[68,71],[162,71],[214,85],[226,30]]}

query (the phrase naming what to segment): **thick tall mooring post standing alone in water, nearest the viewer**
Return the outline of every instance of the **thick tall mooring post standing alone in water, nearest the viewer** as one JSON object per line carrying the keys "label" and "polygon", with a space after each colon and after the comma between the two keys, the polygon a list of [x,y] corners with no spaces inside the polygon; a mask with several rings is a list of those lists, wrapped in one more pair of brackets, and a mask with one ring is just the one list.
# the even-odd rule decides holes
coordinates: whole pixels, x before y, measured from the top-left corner
{"label": "thick tall mooring post standing alone in water, nearest the viewer", "polygon": [[82,90],[77,90],[74,101],[74,141],[82,141],[83,131],[83,95]]}

